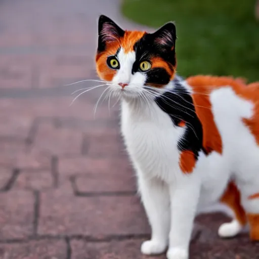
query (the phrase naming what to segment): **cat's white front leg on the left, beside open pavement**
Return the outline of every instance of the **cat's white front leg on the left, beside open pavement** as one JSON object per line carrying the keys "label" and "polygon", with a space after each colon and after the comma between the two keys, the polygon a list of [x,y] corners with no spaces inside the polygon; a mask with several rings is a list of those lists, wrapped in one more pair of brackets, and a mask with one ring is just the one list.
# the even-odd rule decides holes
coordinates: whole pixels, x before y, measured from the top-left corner
{"label": "cat's white front leg on the left, beside open pavement", "polygon": [[166,250],[170,229],[168,186],[159,179],[138,173],[139,190],[151,226],[151,239],[142,243],[143,254],[159,254]]}

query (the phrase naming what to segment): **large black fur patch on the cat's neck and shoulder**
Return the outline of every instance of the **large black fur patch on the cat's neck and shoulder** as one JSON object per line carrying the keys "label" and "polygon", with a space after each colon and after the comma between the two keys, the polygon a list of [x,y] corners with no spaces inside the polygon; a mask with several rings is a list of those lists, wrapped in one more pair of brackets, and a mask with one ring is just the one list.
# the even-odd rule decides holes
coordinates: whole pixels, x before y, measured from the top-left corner
{"label": "large black fur patch on the cat's neck and shoulder", "polygon": [[199,151],[206,153],[202,146],[202,124],[195,112],[191,95],[177,80],[178,78],[175,80],[174,89],[157,97],[155,102],[170,116],[175,126],[181,121],[186,123],[185,134],[178,142],[178,149],[192,151],[197,159]]}

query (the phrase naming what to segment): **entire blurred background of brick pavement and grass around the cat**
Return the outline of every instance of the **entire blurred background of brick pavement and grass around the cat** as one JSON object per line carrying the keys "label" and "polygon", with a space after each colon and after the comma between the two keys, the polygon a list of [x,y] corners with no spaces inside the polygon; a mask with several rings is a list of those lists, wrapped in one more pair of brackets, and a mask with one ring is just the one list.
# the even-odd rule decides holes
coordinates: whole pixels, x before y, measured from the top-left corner
{"label": "entire blurred background of brick pavement and grass around the cat", "polygon": [[[0,258],[148,258],[139,248],[150,229],[121,142],[118,104],[111,100],[109,109],[101,100],[94,112],[101,86],[70,106],[99,85],[78,82],[98,79],[98,17],[150,31],[176,21],[182,76],[253,81],[259,80],[255,4],[0,0]],[[217,237],[226,220],[219,213],[197,218],[191,258],[258,258],[259,246],[247,235]]]}

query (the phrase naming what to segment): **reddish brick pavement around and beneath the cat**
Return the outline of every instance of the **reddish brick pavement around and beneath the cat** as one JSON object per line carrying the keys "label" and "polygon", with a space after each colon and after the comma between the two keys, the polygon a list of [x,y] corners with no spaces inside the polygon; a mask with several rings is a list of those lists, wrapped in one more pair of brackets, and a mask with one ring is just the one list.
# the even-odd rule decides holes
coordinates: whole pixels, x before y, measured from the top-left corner
{"label": "reddish brick pavement around and beneath the cat", "polygon": [[[118,128],[118,106],[94,117],[96,22],[118,1],[0,0],[0,258],[133,259],[149,237]],[[226,218],[197,219],[191,258],[259,258],[247,235],[217,237]],[[152,258],[164,259],[165,256]]]}

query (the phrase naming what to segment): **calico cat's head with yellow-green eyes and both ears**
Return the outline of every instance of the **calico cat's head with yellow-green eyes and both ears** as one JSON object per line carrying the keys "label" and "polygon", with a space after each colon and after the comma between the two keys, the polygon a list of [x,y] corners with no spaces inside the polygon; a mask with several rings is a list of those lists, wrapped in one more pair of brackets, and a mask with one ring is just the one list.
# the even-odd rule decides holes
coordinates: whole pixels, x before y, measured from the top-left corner
{"label": "calico cat's head with yellow-green eyes and both ears", "polygon": [[176,27],[169,22],[154,33],[121,29],[101,15],[96,68],[113,93],[137,97],[163,89],[175,75]]}

